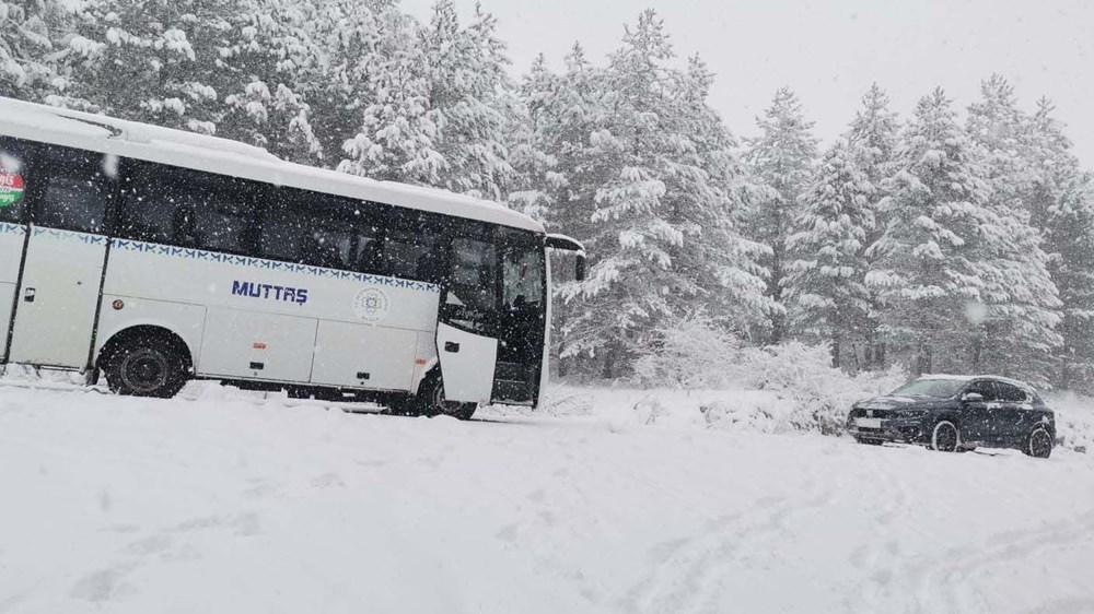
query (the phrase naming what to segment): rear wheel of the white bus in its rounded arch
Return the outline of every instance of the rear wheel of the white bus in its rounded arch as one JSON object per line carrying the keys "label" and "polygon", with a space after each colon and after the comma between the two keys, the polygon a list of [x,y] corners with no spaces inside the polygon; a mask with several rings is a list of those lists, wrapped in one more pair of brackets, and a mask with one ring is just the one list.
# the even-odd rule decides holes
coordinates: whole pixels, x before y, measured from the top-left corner
{"label": "rear wheel of the white bus in its rounded arch", "polygon": [[171,399],[189,379],[187,357],[162,336],[129,335],[107,356],[103,368],[115,394]]}

